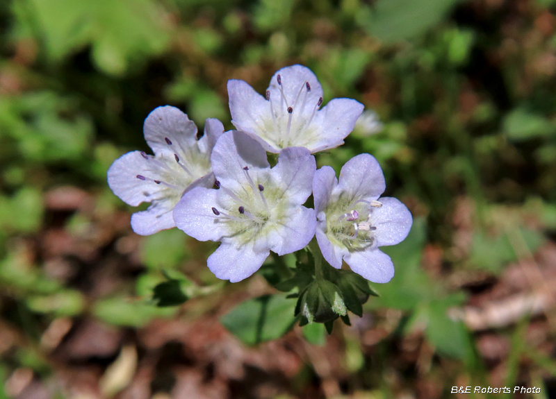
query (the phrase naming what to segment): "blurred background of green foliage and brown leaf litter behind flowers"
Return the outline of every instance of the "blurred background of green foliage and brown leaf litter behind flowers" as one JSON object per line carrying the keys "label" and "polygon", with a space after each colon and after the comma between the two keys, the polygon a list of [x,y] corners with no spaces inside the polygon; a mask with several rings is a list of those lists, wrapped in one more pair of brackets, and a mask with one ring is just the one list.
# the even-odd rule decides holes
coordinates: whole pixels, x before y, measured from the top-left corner
{"label": "blurred background of green foliage and brown leaf litter behind flowers", "polygon": [[[456,385],[555,397],[555,10],[1,1],[0,398],[526,397]],[[261,274],[224,284],[206,269],[213,243],[133,234],[106,170],[148,150],[142,121],[156,106],[178,106],[200,131],[207,117],[231,128],[227,80],[263,92],[294,63],[316,73],[325,102],[357,99],[384,124],[318,163],[375,155],[415,222],[362,318],[275,339],[289,302],[272,296],[271,317],[250,318],[260,302],[235,306],[276,293]],[[194,298],[156,307],[167,281]]]}

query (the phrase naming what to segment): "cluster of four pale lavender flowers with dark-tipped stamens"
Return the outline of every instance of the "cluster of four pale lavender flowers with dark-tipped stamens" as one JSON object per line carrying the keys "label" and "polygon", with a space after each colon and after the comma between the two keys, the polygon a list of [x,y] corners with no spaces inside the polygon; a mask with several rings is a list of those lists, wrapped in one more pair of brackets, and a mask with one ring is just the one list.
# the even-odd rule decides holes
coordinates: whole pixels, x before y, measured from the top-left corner
{"label": "cluster of four pale lavender flowers with dark-tipped stamens", "polygon": [[[108,184],[124,202],[152,204],[133,214],[133,230],[151,235],[177,226],[195,239],[220,241],[208,268],[231,282],[252,275],[270,251],[293,253],[313,237],[334,268],[344,260],[363,278],[388,282],[394,268],[379,246],[407,236],[409,210],[380,197],[386,184],[372,155],[348,161],[339,180],[331,167],[317,170],[312,155],[343,144],[363,105],[334,99],[321,108],[322,87],[300,65],[277,71],[264,95],[243,80],[229,80],[228,93],[237,130],[224,133],[220,121],[207,119],[197,140],[186,114],[156,108],[144,126],[154,155],[127,153],[108,170]],[[273,167],[267,152],[279,154]],[[314,209],[304,206],[311,194]],[[306,292],[320,292],[323,284]]]}

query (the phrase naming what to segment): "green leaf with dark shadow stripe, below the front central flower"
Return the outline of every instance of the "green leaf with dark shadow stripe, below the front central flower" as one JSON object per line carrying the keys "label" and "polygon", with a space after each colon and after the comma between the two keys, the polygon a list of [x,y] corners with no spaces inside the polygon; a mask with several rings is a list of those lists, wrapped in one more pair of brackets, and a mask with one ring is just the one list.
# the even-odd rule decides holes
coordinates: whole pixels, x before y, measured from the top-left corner
{"label": "green leaf with dark shadow stripe, below the front central flower", "polygon": [[295,323],[294,308],[295,300],[286,294],[265,295],[240,303],[220,322],[244,343],[255,345],[286,334]]}

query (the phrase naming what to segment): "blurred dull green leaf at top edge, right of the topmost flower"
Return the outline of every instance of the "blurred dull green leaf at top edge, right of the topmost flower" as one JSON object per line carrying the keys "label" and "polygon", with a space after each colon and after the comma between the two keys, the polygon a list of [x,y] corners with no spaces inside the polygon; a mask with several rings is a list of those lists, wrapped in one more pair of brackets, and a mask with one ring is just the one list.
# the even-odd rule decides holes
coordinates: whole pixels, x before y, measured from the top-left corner
{"label": "blurred dull green leaf at top edge, right of the topmost flower", "polygon": [[438,24],[461,0],[378,0],[361,8],[357,23],[385,43],[408,40]]}

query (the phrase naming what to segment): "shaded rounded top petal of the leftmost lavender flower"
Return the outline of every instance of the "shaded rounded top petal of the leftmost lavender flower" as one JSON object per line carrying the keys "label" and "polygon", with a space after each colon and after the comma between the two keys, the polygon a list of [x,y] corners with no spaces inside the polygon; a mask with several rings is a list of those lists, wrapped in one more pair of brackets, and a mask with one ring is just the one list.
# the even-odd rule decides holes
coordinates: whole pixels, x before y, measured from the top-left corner
{"label": "shaded rounded top petal of the leftmost lavender flower", "polygon": [[155,108],[149,114],[143,125],[143,133],[155,154],[169,153],[173,156],[175,151],[172,146],[186,154],[190,147],[197,144],[197,126],[186,114],[170,105]]}

